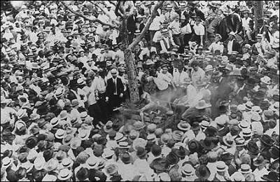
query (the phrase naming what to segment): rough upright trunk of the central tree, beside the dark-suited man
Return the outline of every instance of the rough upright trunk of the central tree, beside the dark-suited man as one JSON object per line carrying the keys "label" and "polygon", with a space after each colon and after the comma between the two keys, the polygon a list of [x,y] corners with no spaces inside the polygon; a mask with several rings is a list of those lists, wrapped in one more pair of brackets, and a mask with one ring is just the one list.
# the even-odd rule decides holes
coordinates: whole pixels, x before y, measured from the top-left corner
{"label": "rough upright trunk of the central tree, beside the dark-suited man", "polygon": [[123,18],[123,23],[120,29],[120,37],[123,39],[123,45],[125,47],[125,64],[127,67],[127,76],[128,76],[128,87],[130,90],[130,102],[134,104],[139,101],[139,89],[137,81],[137,72],[135,68],[134,58],[132,57],[132,50],[128,49],[129,42],[127,36],[127,17]]}

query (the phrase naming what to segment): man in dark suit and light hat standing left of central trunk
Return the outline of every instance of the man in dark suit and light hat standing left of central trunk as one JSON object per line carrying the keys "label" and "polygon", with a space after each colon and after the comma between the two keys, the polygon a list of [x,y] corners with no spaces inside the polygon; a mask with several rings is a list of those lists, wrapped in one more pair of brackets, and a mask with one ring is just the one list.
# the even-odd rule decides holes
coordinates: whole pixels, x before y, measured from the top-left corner
{"label": "man in dark suit and light hat standing left of central trunk", "polygon": [[106,102],[109,102],[111,110],[119,107],[123,98],[124,86],[120,78],[117,78],[118,71],[111,69],[112,78],[107,80],[106,86]]}

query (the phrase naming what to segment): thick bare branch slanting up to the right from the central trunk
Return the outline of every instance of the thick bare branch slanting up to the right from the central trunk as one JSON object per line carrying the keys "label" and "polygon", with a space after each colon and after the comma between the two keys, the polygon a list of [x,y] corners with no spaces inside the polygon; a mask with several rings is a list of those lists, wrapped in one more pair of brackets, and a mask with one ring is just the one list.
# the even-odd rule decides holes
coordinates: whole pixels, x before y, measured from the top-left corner
{"label": "thick bare branch slanting up to the right from the central trunk", "polygon": [[153,8],[151,18],[149,18],[148,22],[146,22],[146,25],[144,29],[141,31],[141,34],[128,46],[128,49],[132,50],[132,48],[134,48],[134,46],[137,45],[137,43],[139,43],[141,39],[144,37],[146,31],[148,31],[148,28],[150,27],[151,23],[153,22],[153,19],[155,19],[155,16],[158,13],[158,8],[162,6],[163,2],[164,1],[158,1],[158,3],[155,5],[155,8]]}

